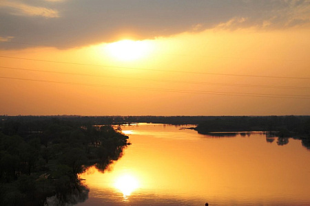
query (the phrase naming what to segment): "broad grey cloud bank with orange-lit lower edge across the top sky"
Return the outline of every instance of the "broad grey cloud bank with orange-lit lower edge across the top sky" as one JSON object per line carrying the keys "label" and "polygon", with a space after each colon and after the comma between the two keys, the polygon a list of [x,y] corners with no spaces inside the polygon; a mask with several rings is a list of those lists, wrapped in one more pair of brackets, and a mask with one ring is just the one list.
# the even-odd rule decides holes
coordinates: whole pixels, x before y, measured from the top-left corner
{"label": "broad grey cloud bank with orange-lit lower edge across the top sky", "polygon": [[[146,39],[213,28],[285,30],[310,25],[309,0],[29,0],[29,5],[4,2],[0,4],[0,36],[59,48],[108,43],[122,36]],[[39,18],[42,16],[47,18]],[[0,47],[9,49],[26,46],[0,43]]]}

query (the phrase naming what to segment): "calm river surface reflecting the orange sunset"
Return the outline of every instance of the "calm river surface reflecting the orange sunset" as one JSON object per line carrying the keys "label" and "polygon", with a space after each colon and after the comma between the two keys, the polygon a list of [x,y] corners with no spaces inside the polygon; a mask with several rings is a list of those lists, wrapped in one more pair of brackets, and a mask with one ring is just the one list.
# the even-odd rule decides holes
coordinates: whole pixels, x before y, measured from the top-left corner
{"label": "calm river surface reflecting the orange sunset", "polygon": [[[310,205],[310,150],[263,133],[199,135],[163,124],[122,126],[131,146],[105,173],[80,177],[79,205]],[[285,142],[285,141],[284,141]]]}

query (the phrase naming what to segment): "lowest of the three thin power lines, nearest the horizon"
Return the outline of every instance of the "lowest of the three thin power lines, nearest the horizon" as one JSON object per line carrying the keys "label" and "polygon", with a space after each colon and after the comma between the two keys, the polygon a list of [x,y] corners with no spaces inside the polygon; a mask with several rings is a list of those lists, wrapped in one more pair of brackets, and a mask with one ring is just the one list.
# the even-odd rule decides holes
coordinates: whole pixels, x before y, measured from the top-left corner
{"label": "lowest of the three thin power lines, nearest the horizon", "polygon": [[277,94],[267,94],[267,93],[229,93],[229,92],[218,92],[218,91],[188,91],[188,90],[178,90],[178,89],[158,89],[158,88],[142,88],[142,87],[122,87],[122,86],[112,86],[112,85],[103,85],[103,84],[85,84],[85,83],[76,83],[76,82],[59,82],[54,80],[36,80],[36,79],[27,79],[27,78],[12,78],[0,76],[3,79],[10,80],[25,80],[33,82],[48,82],[48,83],[57,83],[57,84],[73,84],[80,86],[89,86],[89,87],[112,87],[112,88],[121,88],[121,89],[138,89],[145,91],[166,91],[174,93],[193,93],[193,94],[211,94],[211,95],[234,95],[234,96],[246,96],[246,97],[256,97],[256,98],[285,98],[285,99],[303,99],[310,100],[310,95],[277,95]]}

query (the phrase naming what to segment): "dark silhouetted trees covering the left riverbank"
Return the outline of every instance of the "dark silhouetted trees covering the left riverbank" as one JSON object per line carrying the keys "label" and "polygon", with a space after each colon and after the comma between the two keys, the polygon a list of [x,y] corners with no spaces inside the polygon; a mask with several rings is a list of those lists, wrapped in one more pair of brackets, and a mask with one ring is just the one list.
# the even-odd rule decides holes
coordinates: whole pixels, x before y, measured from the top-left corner
{"label": "dark silhouetted trees covering the left riverbank", "polygon": [[121,157],[127,136],[111,125],[62,117],[2,117],[0,205],[57,205],[87,198],[78,174],[104,171]]}

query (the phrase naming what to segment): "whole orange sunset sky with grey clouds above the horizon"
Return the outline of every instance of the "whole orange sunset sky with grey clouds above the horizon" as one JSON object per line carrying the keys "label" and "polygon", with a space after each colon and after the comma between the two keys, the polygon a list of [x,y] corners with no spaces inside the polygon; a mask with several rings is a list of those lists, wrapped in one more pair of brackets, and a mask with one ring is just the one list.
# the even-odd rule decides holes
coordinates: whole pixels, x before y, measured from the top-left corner
{"label": "whole orange sunset sky with grey clouds above the horizon", "polygon": [[1,0],[0,115],[310,115],[309,0]]}

